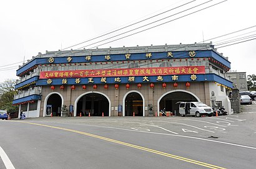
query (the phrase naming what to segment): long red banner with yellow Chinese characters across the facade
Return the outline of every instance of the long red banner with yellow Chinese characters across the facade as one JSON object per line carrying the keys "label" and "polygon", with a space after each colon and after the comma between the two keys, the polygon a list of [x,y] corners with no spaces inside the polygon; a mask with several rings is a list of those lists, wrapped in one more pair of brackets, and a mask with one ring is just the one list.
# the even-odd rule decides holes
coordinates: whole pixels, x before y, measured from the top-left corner
{"label": "long red banner with yellow Chinese characters across the facade", "polygon": [[108,76],[164,76],[164,75],[188,75],[188,74],[205,74],[205,66],[41,71],[39,78],[47,79],[47,78],[108,77]]}

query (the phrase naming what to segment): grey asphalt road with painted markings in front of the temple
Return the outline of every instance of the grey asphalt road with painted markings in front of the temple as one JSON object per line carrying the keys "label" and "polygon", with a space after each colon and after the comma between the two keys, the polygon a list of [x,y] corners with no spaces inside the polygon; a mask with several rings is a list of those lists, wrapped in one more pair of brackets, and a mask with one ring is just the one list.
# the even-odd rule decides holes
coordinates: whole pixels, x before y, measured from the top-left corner
{"label": "grey asphalt road with painted markings in front of the temple", "polygon": [[26,169],[255,168],[255,117],[254,103],[219,117],[0,121],[0,147],[14,168]]}

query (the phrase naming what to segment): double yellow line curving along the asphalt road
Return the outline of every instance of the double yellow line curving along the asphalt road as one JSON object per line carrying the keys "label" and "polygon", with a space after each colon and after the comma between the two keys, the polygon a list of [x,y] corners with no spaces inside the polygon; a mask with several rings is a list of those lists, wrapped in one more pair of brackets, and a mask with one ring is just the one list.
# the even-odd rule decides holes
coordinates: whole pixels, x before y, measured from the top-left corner
{"label": "double yellow line curving along the asphalt road", "polygon": [[[21,122],[21,121],[16,121],[16,122]],[[207,168],[225,169],[223,167],[218,167],[216,165],[211,165],[209,163],[199,162],[197,160],[192,160],[192,159],[189,159],[189,158],[184,158],[184,157],[180,157],[180,156],[177,156],[177,155],[172,155],[170,153],[159,152],[157,150],[153,150],[153,149],[150,149],[150,148],[141,147],[139,145],[129,144],[129,143],[126,143],[126,142],[120,142],[118,140],[109,139],[107,137],[101,137],[99,135],[89,134],[87,132],[81,132],[79,130],[72,130],[72,129],[66,129],[66,128],[55,127],[55,126],[48,126],[48,125],[37,124],[37,123],[33,123],[33,122],[23,122],[23,123],[33,124],[33,125],[37,125],[37,126],[50,127],[50,128],[53,128],[53,129],[65,130],[65,131],[68,131],[68,132],[74,132],[74,133],[77,133],[77,134],[87,135],[87,136],[94,137],[94,138],[97,138],[97,139],[106,140],[108,142],[113,142],[113,143],[116,143],[116,144],[125,145],[127,147],[132,147],[132,148],[136,148],[136,149],[139,149],[139,150],[144,150],[145,152],[155,153],[155,154],[158,154],[158,155],[162,155],[164,157],[174,158],[174,159],[181,160],[181,161],[188,162],[188,163],[194,163],[195,165],[200,165],[200,166],[207,167]]]}

